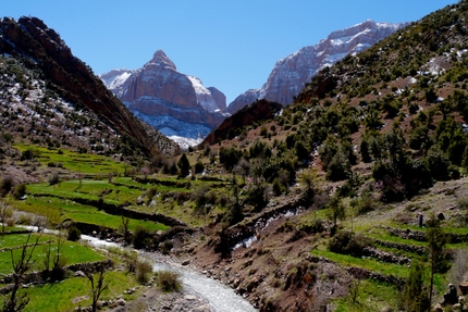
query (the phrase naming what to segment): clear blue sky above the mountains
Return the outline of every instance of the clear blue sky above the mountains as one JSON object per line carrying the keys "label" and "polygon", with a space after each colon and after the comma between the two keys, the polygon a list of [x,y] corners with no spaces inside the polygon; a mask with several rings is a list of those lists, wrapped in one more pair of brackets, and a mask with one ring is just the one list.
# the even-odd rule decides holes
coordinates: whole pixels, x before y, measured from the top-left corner
{"label": "clear blue sky above the mountains", "polygon": [[95,74],[143,67],[161,49],[227,104],[276,61],[366,20],[416,22],[457,0],[1,0],[0,17],[36,16]]}

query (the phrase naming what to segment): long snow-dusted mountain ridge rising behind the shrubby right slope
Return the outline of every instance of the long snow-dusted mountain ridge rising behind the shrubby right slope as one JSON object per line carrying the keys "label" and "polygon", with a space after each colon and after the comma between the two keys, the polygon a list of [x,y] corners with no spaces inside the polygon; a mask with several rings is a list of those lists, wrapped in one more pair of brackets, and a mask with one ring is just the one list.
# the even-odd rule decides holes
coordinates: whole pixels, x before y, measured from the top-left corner
{"label": "long snow-dusted mountain ridge rising behind the shrubby right slope", "polygon": [[405,25],[405,23],[375,23],[368,20],[333,32],[317,45],[304,47],[279,60],[267,83],[260,89],[250,89],[238,96],[230,103],[227,112],[232,114],[257,99],[288,104],[320,70],[333,65],[348,54],[369,48]]}

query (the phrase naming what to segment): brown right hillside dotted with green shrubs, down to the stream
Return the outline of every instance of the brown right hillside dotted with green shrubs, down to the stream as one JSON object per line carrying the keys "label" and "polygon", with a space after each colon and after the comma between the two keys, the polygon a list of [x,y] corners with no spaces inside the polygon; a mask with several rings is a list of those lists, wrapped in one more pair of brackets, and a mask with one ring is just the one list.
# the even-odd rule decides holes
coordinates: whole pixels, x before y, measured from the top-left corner
{"label": "brown right hillside dotted with green shrubs, down to the stream", "polygon": [[[411,23],[322,70],[274,120],[211,146],[246,176],[247,209],[201,248],[200,266],[261,311],[411,311],[402,263],[430,270],[427,237],[439,220],[452,271],[435,275],[432,305],[444,285],[466,279],[457,254],[467,236],[467,14],[460,1]],[[419,283],[423,307],[430,280]],[[367,295],[353,299],[362,284]]]}

